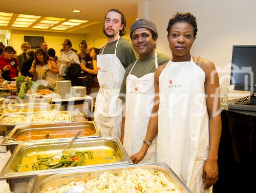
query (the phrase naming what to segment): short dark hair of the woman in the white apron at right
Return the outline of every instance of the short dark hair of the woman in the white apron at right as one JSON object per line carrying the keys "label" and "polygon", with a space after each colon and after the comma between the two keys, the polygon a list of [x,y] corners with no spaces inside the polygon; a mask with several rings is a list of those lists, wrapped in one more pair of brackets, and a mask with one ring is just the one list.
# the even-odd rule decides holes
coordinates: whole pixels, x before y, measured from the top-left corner
{"label": "short dark hair of the woman in the white apron at right", "polygon": [[191,13],[180,13],[177,12],[175,15],[173,15],[172,18],[169,19],[169,23],[167,26],[167,32],[168,32],[168,36],[170,35],[170,28],[172,28],[172,26],[176,23],[181,23],[181,22],[185,22],[190,24],[193,29],[194,29],[194,37],[196,37],[197,35],[197,19],[196,17],[191,14]]}

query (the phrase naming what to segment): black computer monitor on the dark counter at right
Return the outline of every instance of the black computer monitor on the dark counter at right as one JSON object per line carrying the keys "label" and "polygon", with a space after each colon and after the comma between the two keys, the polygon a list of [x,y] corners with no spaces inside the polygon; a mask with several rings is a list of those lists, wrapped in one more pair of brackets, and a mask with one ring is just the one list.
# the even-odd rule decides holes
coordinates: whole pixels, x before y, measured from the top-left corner
{"label": "black computer monitor on the dark counter at right", "polygon": [[230,84],[234,90],[250,91],[250,104],[256,103],[256,46],[233,46]]}

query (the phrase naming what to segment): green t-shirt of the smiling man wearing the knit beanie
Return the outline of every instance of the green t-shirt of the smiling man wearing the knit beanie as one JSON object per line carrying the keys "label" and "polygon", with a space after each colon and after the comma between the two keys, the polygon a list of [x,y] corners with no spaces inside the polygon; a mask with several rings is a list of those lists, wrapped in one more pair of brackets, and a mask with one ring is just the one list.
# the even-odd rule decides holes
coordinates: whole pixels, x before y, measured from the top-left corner
{"label": "green t-shirt of the smiling man wearing the knit beanie", "polygon": [[[168,62],[169,60],[170,60],[169,56],[166,56],[162,53],[157,53],[158,66],[163,65],[164,63]],[[131,63],[131,65],[129,65],[129,67],[127,67],[127,69],[124,73],[123,83],[122,83],[122,86],[120,89],[120,94],[119,94],[119,98],[122,100],[125,99],[125,94],[126,94],[126,78],[129,75],[130,71],[132,70],[134,63],[135,63],[135,61],[133,63]],[[146,74],[155,72],[155,70],[156,70],[155,53],[153,53],[145,59],[141,59],[141,60],[139,59],[136,62],[131,74],[140,78]]]}

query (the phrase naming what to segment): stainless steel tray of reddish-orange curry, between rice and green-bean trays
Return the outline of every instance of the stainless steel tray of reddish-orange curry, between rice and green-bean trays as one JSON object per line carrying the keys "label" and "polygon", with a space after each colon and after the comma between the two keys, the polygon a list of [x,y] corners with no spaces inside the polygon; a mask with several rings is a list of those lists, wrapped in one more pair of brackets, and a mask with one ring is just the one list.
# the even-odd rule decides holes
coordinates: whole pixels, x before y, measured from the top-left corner
{"label": "stainless steel tray of reddish-orange curry, between rice and green-bean trays", "polygon": [[[8,134],[7,138],[2,142],[1,145],[14,145],[25,144],[25,143],[44,143],[44,142],[54,142],[54,141],[65,141],[71,140],[74,136],[61,138],[62,133],[77,133],[78,131],[83,130],[85,133],[87,130],[93,131],[92,135],[88,136],[80,136],[79,139],[84,138],[94,138],[101,137],[102,134],[99,130],[99,127],[94,121],[84,121],[84,122],[69,122],[69,123],[45,123],[45,124],[34,124],[34,125],[25,125],[25,126],[16,126],[13,130]],[[55,135],[51,135],[51,133],[57,132]],[[29,135],[31,133],[38,133],[38,135],[46,136],[50,134],[51,139],[35,139],[35,140],[26,140],[26,141],[16,141],[12,139],[17,139],[20,135]],[[58,138],[58,134],[60,134],[60,138]],[[36,134],[35,134],[36,135]],[[12,138],[12,139],[8,139]],[[13,149],[13,148],[9,148]]]}

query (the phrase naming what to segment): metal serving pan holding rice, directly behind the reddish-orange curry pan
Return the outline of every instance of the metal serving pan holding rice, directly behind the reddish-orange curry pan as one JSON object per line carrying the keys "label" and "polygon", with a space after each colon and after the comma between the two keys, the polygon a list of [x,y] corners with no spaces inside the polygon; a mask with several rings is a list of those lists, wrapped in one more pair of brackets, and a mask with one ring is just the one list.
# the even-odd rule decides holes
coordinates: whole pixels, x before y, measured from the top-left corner
{"label": "metal serving pan holding rice, directly behind the reddish-orange curry pan", "polygon": [[[2,128],[3,131],[6,130],[12,130],[16,125],[28,125],[28,124],[41,124],[46,123],[44,121],[40,122],[26,122],[23,121],[22,123],[5,123],[3,122],[3,119],[6,117],[15,117],[15,116],[22,116],[24,115],[26,118],[32,116],[33,114],[37,115],[48,115],[49,113],[67,113],[68,114],[68,120],[62,120],[62,121],[49,121],[48,123],[65,123],[65,122],[72,122],[72,114],[70,111],[58,111],[58,112],[27,112],[27,113],[10,113],[10,114],[3,114],[0,116],[0,129]],[[74,116],[75,117],[75,116]],[[74,118],[76,119],[76,118]]]}

